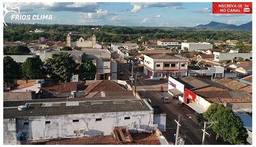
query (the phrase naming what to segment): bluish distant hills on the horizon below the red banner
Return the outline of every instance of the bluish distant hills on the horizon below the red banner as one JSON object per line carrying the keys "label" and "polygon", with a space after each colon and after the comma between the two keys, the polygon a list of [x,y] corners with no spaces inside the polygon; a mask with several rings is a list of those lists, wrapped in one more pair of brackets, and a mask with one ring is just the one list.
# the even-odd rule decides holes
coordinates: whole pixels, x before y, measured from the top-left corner
{"label": "bluish distant hills on the horizon below the red banner", "polygon": [[209,24],[198,25],[198,26],[195,26],[194,28],[206,28],[206,29],[213,29],[213,30],[252,30],[252,21],[239,26],[211,21]]}

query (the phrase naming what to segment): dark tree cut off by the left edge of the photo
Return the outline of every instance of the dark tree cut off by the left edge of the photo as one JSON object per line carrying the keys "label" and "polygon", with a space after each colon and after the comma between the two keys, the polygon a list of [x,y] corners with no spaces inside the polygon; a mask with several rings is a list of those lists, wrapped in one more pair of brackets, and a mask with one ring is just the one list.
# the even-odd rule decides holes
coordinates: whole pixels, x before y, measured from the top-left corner
{"label": "dark tree cut off by the left edge of the photo", "polygon": [[4,57],[4,85],[7,86],[9,83],[13,83],[14,79],[21,77],[19,71],[19,65],[10,56]]}

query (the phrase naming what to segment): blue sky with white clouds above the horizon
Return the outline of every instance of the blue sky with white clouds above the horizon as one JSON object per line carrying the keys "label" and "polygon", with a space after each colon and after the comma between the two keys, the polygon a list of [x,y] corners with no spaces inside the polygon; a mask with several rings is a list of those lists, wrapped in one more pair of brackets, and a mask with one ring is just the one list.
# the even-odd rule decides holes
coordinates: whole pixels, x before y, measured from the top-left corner
{"label": "blue sky with white clouds above the horizon", "polygon": [[[5,22],[115,25],[151,27],[192,27],[210,21],[241,25],[252,21],[252,14],[212,14],[212,3],[5,3],[8,10],[19,7],[19,13],[9,12]],[[4,5],[5,6],[5,5]],[[11,7],[10,7],[11,6]],[[17,10],[17,9],[16,9]],[[14,14],[52,15],[51,20],[15,20]]]}

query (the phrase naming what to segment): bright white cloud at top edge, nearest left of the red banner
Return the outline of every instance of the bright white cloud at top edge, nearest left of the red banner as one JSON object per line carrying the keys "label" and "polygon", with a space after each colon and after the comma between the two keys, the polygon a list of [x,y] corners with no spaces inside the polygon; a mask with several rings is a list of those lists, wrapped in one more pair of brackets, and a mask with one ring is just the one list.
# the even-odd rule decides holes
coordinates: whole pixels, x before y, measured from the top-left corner
{"label": "bright white cloud at top edge, nearest left of the red banner", "polygon": [[132,13],[137,13],[138,11],[145,8],[173,8],[173,9],[181,9],[182,3],[131,3],[133,5]]}

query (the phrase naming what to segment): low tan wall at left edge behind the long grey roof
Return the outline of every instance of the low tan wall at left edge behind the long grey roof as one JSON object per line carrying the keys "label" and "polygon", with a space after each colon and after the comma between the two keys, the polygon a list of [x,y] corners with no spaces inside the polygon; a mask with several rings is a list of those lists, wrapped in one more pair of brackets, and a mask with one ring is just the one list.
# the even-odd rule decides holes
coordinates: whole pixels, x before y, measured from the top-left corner
{"label": "low tan wall at left edge behind the long grey roof", "polygon": [[4,100],[30,100],[36,99],[37,95],[35,91],[29,92],[3,92]]}

